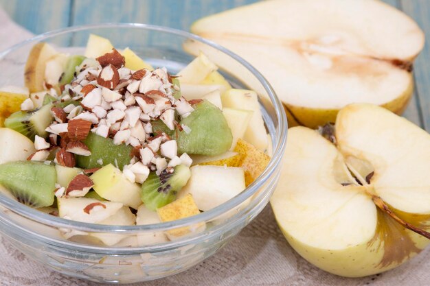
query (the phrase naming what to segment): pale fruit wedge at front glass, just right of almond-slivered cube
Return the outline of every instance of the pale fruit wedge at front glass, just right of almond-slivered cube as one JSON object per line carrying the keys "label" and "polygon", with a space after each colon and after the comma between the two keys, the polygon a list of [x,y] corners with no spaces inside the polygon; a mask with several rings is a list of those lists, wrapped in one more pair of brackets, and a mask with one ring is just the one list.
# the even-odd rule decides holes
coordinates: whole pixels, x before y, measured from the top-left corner
{"label": "pale fruit wedge at front glass, just right of almond-slivered cube", "polygon": [[[104,204],[104,202],[102,202]],[[136,216],[130,211],[128,206],[123,206],[114,215],[98,222],[98,224],[106,224],[109,226],[133,226],[136,222]],[[106,246],[113,246],[114,244],[122,241],[128,235],[120,235],[113,233],[91,233],[91,237],[96,237]]]}

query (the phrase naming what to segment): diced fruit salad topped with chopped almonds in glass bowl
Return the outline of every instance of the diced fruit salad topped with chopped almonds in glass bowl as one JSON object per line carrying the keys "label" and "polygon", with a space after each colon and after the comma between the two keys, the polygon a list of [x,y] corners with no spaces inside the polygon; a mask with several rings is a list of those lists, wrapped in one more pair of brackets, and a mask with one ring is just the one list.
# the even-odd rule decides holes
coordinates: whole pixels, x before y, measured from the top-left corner
{"label": "diced fruit salad topped with chopped almonds in glass bowl", "polygon": [[25,88],[0,90],[0,190],[64,219],[124,226],[227,202],[260,176],[270,142],[258,95],[217,69],[202,53],[172,74],[95,35],[83,56],[38,43]]}

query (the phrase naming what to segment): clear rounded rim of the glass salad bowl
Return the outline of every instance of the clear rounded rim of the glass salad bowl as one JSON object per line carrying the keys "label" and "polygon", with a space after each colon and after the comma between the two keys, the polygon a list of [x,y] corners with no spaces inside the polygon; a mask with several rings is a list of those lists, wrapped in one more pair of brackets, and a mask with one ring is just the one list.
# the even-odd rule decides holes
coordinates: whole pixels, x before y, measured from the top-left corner
{"label": "clear rounded rim of the glass salad bowl", "polygon": [[[231,58],[233,58],[234,60],[242,64],[242,66],[244,66],[246,69],[248,69],[253,74],[253,76],[255,76],[259,80],[260,84],[262,84],[265,91],[269,95],[269,98],[271,99],[271,103],[273,104],[273,107],[275,109],[276,117],[278,119],[278,127],[276,128],[276,132],[275,132],[276,134],[275,145],[273,145],[273,156],[269,162],[269,165],[263,171],[263,173],[257,178],[257,180],[252,184],[250,184],[249,187],[247,187],[247,189],[245,189],[245,191],[242,191],[242,193],[232,198],[231,200],[223,204],[220,204],[220,206],[217,206],[216,208],[212,208],[210,211],[205,211],[203,213],[200,213],[199,215],[194,215],[192,217],[178,219],[172,222],[163,222],[159,224],[147,224],[147,225],[139,225],[139,226],[106,226],[101,224],[75,222],[69,219],[54,217],[52,215],[45,214],[41,211],[37,211],[34,208],[25,206],[24,204],[16,202],[15,200],[12,200],[2,194],[0,194],[0,204],[5,206],[6,208],[9,208],[11,211],[14,211],[14,213],[22,215],[23,217],[27,217],[28,219],[32,219],[35,222],[40,222],[42,224],[46,224],[49,226],[56,226],[58,228],[74,228],[74,229],[79,229],[84,231],[93,231],[97,233],[99,232],[135,233],[139,231],[145,232],[148,230],[151,230],[151,231],[168,230],[172,228],[179,228],[181,226],[188,226],[190,224],[197,224],[199,222],[210,221],[211,219],[214,219],[215,217],[218,217],[219,215],[222,215],[223,213],[231,210],[231,208],[238,206],[240,203],[245,202],[245,200],[250,198],[251,195],[255,194],[258,190],[260,190],[264,182],[266,182],[273,175],[273,172],[275,171],[276,166],[280,164],[280,161],[282,160],[284,147],[286,145],[286,133],[287,133],[286,115],[285,115],[283,105],[280,102],[280,99],[278,99],[278,97],[275,95],[275,91],[273,91],[273,88],[271,87],[269,82],[267,82],[264,76],[259,71],[257,71],[251,64],[249,64],[249,62],[242,59],[236,53],[233,53],[228,49],[225,49],[224,47],[210,40],[206,40],[204,38],[201,38],[200,36],[196,36],[194,34],[191,34],[189,32],[185,32],[179,29],[173,29],[170,27],[163,27],[158,25],[141,24],[141,23],[103,23],[103,24],[95,24],[95,25],[80,25],[80,26],[66,27],[63,29],[56,29],[51,32],[46,32],[44,34],[34,36],[33,38],[24,40],[23,42],[13,45],[12,47],[0,52],[0,60],[3,60],[3,58],[7,56],[8,53],[11,53],[14,50],[24,47],[25,45],[28,45],[30,43],[39,42],[42,40],[53,38],[55,36],[60,36],[62,34],[69,34],[71,32],[79,32],[87,29],[98,29],[98,28],[103,29],[103,28],[109,28],[109,27],[146,29],[150,31],[166,32],[168,34],[174,34],[176,36],[182,36],[184,38],[197,40],[201,43],[214,47],[215,49],[218,49],[219,51],[227,54],[228,56],[230,56]],[[243,212],[244,211],[242,210],[236,213],[230,219],[234,219],[234,217],[240,217],[243,214]]]}

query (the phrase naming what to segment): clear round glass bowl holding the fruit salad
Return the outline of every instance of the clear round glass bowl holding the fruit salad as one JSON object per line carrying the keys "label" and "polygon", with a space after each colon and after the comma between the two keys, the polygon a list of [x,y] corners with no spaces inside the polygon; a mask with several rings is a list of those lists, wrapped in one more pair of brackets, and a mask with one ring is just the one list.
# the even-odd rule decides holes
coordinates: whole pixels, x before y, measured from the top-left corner
{"label": "clear round glass bowl holding the fruit salad", "polygon": [[[73,222],[0,193],[0,234],[46,267],[91,281],[135,283],[177,274],[214,254],[266,206],[278,182],[286,143],[284,108],[264,77],[231,51],[188,32],[133,23],[69,27],[25,40],[0,53],[0,86],[23,86],[25,62],[34,44],[47,42],[59,51],[83,54],[90,33],[109,38],[117,49],[130,47],[153,66],[167,67],[170,73],[177,73],[193,60],[190,53],[205,51],[232,86],[258,91],[272,159],[261,176],[235,198],[199,215],[161,224]],[[179,228],[188,234],[157,241],[157,237]],[[119,242],[104,246],[94,239],[97,235]]]}

